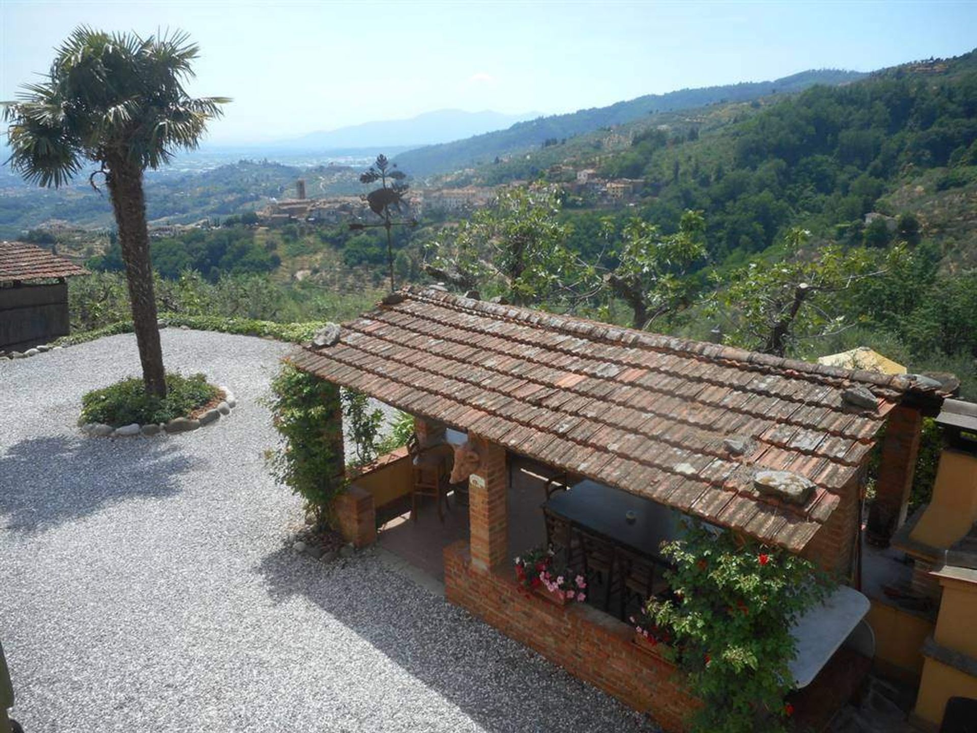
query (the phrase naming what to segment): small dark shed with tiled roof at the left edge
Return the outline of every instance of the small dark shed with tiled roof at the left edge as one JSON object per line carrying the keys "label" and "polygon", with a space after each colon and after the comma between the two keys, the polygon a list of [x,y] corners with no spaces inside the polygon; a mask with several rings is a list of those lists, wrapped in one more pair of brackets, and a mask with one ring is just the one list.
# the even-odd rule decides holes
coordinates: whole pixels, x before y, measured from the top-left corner
{"label": "small dark shed with tiled roof at the left edge", "polygon": [[0,241],[0,350],[22,351],[69,331],[66,278],[84,268],[22,241]]}

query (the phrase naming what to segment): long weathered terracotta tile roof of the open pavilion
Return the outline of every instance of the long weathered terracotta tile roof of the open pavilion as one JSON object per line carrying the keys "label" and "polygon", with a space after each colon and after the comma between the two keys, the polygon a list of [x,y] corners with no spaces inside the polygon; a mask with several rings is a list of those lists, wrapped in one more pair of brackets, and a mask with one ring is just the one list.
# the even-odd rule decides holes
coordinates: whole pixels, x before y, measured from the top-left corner
{"label": "long weathered terracotta tile roof of the open pavilion", "polygon": [[[866,461],[910,380],[407,288],[295,366],[516,453],[801,549]],[[393,303],[392,300],[400,302]],[[842,399],[861,386],[876,410]],[[935,393],[930,393],[935,394]],[[744,436],[742,455],[724,439]],[[816,488],[793,506],[760,469]]]}

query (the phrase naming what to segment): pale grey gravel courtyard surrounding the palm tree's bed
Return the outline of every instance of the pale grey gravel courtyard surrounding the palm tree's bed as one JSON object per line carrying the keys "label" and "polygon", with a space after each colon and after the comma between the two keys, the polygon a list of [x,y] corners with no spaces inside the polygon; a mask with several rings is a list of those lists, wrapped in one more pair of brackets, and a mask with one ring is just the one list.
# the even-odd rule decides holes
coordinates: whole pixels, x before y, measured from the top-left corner
{"label": "pale grey gravel courtyard surrounding the palm tree's bed", "polygon": [[286,346],[166,329],[230,417],[83,438],[81,395],[138,373],[132,336],[0,363],[0,637],[27,733],[651,730],[367,551],[286,549],[266,392]]}

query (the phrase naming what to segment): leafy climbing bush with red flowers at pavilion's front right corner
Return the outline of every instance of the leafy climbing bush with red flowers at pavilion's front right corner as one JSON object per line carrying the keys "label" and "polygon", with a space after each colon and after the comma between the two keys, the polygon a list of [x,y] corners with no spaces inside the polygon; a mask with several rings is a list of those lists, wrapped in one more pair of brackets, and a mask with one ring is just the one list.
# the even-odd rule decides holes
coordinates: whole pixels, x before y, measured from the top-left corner
{"label": "leafy climbing bush with red flowers at pavilion's front right corner", "polygon": [[691,691],[702,701],[696,733],[786,730],[793,680],[790,626],[823,600],[831,582],[794,554],[718,535],[701,524],[663,546],[674,597],[652,600],[648,616],[674,638]]}

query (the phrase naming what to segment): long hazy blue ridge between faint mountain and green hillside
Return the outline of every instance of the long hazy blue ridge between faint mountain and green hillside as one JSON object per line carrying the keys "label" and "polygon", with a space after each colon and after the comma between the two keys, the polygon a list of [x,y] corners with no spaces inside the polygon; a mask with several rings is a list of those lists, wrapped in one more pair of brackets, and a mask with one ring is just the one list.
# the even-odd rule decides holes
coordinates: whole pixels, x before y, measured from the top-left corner
{"label": "long hazy blue ridge between faint mountain and green hillside", "polygon": [[792,94],[815,84],[845,84],[862,78],[858,71],[817,69],[801,71],[773,81],[742,82],[726,86],[681,89],[667,94],[649,94],[618,102],[610,107],[580,109],[569,114],[539,117],[519,122],[506,130],[486,133],[453,143],[427,146],[397,156],[398,164],[411,175],[430,176],[490,162],[496,155],[539,148],[547,140],[563,140],[619,125],[649,114],[699,108],[715,103],[749,102],[772,94]]}

